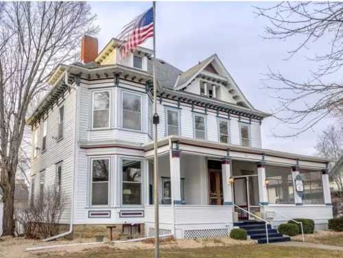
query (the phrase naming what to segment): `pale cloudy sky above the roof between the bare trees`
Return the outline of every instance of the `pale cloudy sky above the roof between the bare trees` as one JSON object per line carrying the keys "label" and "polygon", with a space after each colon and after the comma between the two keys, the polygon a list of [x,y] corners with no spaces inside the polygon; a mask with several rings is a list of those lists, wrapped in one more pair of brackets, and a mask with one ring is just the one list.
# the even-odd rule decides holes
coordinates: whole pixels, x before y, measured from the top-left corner
{"label": "pale cloudy sky above the roof between the bare trees", "polygon": [[[123,25],[151,7],[151,2],[89,2],[97,14],[99,50],[117,36]],[[157,2],[156,56],[185,71],[199,61],[217,54],[249,102],[258,110],[271,113],[278,102],[276,93],[265,89],[268,67],[300,82],[307,80],[316,65],[306,60],[320,51],[319,43],[307,53],[291,60],[287,51],[300,43],[292,40],[266,40],[268,21],[257,17],[254,6],[272,6],[270,2]],[[145,47],[152,47],[148,40]],[[267,82],[271,86],[278,82]],[[273,117],[263,120],[262,147],[298,154],[316,154],[314,146],[333,119],[329,118],[295,138],[274,137],[289,134],[291,128]]]}

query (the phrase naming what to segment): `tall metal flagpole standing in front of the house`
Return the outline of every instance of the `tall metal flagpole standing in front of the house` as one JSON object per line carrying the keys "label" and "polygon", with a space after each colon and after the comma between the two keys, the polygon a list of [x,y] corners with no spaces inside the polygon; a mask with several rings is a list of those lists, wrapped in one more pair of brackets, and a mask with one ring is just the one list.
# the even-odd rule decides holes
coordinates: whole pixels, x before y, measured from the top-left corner
{"label": "tall metal flagpole standing in front of the house", "polygon": [[160,257],[160,241],[159,241],[159,218],[158,218],[158,156],[157,156],[157,125],[159,123],[159,117],[157,114],[157,80],[156,80],[156,1],[152,2],[152,8],[154,11],[154,211],[155,211],[155,258]]}

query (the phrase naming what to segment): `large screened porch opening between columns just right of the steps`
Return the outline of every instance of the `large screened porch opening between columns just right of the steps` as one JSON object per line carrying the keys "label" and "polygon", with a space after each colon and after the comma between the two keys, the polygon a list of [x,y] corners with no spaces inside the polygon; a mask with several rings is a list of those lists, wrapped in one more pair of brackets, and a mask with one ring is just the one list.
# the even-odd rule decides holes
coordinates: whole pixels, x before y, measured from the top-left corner
{"label": "large screened porch opening between columns just right of the steps", "polygon": [[267,191],[272,204],[294,204],[292,171],[289,167],[265,166]]}

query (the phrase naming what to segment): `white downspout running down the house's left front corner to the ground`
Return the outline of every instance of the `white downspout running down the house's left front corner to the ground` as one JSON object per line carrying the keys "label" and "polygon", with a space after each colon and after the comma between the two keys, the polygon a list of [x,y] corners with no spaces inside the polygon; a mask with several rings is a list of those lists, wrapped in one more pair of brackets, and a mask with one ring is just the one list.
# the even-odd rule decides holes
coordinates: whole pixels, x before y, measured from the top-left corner
{"label": "white downspout running down the house's left front corner to the ground", "polygon": [[73,193],[72,193],[72,198],[71,198],[71,216],[70,216],[70,222],[69,222],[69,231],[60,233],[58,235],[54,235],[53,237],[48,237],[43,239],[43,242],[48,242],[54,239],[58,239],[60,237],[65,237],[66,235],[70,235],[73,233],[73,218],[74,218],[74,200],[75,200],[75,176],[76,176],[76,168],[77,168],[77,159],[76,159],[76,148],[77,148],[77,143],[78,143],[78,87],[73,86],[72,84],[69,84],[68,82],[68,70],[64,71],[64,83],[69,86],[69,88],[75,90],[75,126],[74,126],[74,150],[73,150],[73,156],[74,156],[74,171],[73,171],[73,177],[71,178],[71,185],[73,186]]}

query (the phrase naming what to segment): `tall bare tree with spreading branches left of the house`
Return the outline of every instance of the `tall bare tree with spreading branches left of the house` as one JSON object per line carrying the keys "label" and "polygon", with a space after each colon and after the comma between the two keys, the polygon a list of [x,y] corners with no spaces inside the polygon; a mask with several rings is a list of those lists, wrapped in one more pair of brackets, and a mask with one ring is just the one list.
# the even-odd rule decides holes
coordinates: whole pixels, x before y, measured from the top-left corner
{"label": "tall bare tree with spreading branches left of the house", "polygon": [[56,65],[76,60],[83,34],[95,34],[84,2],[0,3],[0,187],[3,235],[14,233],[14,179],[32,102]]}

